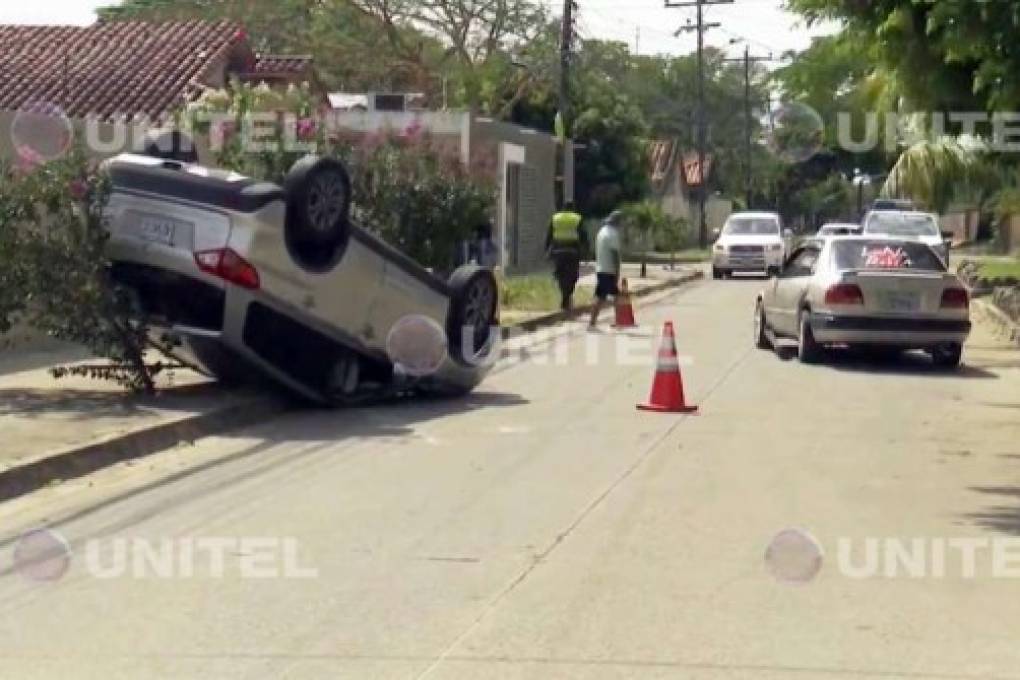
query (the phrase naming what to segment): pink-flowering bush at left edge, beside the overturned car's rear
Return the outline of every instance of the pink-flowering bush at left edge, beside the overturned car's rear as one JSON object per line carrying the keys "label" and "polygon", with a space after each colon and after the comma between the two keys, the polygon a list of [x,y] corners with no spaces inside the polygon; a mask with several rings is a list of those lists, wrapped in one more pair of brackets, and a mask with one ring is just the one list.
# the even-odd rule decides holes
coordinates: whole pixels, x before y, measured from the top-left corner
{"label": "pink-flowering bush at left edge, beside the overturned car's rear", "polygon": [[[19,159],[21,160],[21,159]],[[110,275],[104,210],[108,178],[72,150],[27,166],[0,164],[0,343],[15,322],[87,347],[109,363],[56,369],[152,390],[171,368],[149,364],[150,338]]]}

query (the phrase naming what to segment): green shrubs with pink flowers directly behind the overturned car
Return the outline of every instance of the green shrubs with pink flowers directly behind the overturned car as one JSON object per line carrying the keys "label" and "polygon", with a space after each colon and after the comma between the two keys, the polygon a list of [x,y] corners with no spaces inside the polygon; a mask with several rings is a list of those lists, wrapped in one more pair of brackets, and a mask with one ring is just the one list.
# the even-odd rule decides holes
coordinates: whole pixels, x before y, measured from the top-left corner
{"label": "green shrubs with pink flowers directly behind the overturned car", "polygon": [[[277,114],[275,126],[259,123],[264,151],[246,149],[252,114]],[[268,87],[234,83],[230,92],[206,93],[185,112],[187,126],[207,134],[218,166],[275,181],[307,151],[288,150],[301,142],[318,153],[347,163],[353,189],[353,213],[422,266],[453,269],[457,247],[489,220],[495,204],[494,182],[466,171],[459,155],[445,152],[420,128],[387,130],[344,141],[311,117],[313,100],[303,89],[276,93]],[[203,117],[227,117],[206,124]],[[282,114],[282,115],[279,115]],[[247,128],[246,128],[247,125]],[[266,132],[269,134],[267,135]]]}

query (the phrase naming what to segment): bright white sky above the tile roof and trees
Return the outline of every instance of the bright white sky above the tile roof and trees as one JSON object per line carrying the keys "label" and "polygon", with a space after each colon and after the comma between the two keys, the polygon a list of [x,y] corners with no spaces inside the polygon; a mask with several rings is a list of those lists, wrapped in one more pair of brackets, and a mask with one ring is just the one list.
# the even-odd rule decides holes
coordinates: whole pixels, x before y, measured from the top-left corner
{"label": "bright white sky above the tile roof and trees", "polygon": [[[543,1],[556,13],[563,6],[562,0]],[[93,10],[110,3],[111,0],[4,0],[0,3],[0,23],[90,23],[95,19]],[[636,45],[643,54],[686,54],[695,49],[693,33],[673,37],[677,28],[694,18],[694,9],[666,9],[664,0],[577,0],[577,3],[578,25],[584,37],[626,41],[631,48]],[[811,44],[812,36],[834,30],[828,25],[808,31],[799,25],[798,16],[782,9],[782,0],[735,0],[731,5],[706,8],[707,20],[722,23],[721,29],[706,34],[706,43],[740,56],[745,43],[730,45],[730,41],[741,38],[756,54],[768,56],[771,52],[778,57],[786,50],[804,49]]]}

